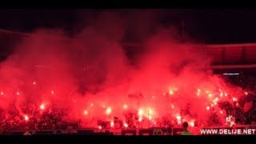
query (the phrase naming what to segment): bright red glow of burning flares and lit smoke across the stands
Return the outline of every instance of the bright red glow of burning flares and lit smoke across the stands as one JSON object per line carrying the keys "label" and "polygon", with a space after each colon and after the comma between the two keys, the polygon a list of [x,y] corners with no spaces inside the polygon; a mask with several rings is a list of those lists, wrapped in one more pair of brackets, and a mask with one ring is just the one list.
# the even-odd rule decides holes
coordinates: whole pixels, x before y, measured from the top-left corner
{"label": "bright red glow of burning flares and lit smoke across the stands", "polygon": [[[20,51],[1,63],[0,122],[30,119],[31,125],[50,122],[46,124],[56,127],[58,122],[48,121],[53,118],[59,123],[81,121],[81,126],[96,129],[99,125],[105,129],[104,122],[107,126],[110,122],[111,127],[123,127],[127,122],[129,126],[125,123],[125,127],[136,128],[148,123],[163,126],[167,121],[176,125],[183,119],[208,124],[210,114],[222,114],[220,110],[226,109],[222,102],[238,106],[238,100],[249,92],[230,85],[210,70],[201,70],[201,66],[210,66],[211,58],[205,61],[208,55],[194,50],[198,45],[180,46],[165,31],[159,37],[146,38],[145,50],[138,50],[138,57],[132,56],[136,59],[132,60],[119,43],[122,30],[106,26],[114,32],[113,38],[106,38],[109,30],[102,30],[105,24],[109,22],[103,27],[89,26],[100,30],[81,30],[81,34],[67,39],[66,34],[39,30],[36,37],[24,38],[22,45],[14,47]],[[63,42],[59,40],[62,37]],[[34,67],[36,63],[40,66]]]}

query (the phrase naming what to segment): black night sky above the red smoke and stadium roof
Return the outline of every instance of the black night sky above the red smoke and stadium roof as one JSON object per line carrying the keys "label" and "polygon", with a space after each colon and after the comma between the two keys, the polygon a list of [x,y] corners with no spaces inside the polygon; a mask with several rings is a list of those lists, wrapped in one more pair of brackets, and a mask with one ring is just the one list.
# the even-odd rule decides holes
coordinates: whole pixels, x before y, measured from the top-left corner
{"label": "black night sky above the red smoke and stadium roof", "polygon": [[[106,10],[0,10],[0,29],[31,32],[37,28],[60,28],[67,32],[78,29],[81,18],[97,17]],[[140,10],[109,10],[133,15]],[[149,11],[149,10],[148,10]],[[256,42],[256,10],[154,10],[162,26],[181,28],[190,36],[206,43]],[[85,24],[86,25],[86,24]]]}

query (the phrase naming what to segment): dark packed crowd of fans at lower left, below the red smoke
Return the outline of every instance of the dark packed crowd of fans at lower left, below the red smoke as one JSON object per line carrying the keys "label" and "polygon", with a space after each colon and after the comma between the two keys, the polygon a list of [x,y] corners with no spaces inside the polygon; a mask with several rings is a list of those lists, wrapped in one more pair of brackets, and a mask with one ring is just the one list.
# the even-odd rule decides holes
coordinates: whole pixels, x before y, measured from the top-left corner
{"label": "dark packed crowd of fans at lower left, below the red smoke", "polygon": [[68,126],[78,128],[78,122],[67,122],[63,120],[65,110],[46,109],[38,110],[35,105],[30,104],[24,108],[24,114],[17,109],[0,109],[0,133],[13,130],[65,130]]}

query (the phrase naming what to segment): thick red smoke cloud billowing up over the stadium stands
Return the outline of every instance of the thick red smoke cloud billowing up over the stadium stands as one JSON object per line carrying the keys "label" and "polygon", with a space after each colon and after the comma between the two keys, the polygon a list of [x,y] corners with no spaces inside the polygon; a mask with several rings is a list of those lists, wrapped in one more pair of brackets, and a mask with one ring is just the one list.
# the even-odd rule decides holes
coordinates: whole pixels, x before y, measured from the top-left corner
{"label": "thick red smoke cloud billowing up over the stadium stands", "polygon": [[[208,106],[220,110],[214,104],[217,95],[229,101],[239,97],[242,90],[202,70],[210,66],[210,57],[196,50],[197,44],[180,43],[174,28],[156,28],[157,14],[131,16],[99,14],[72,37],[59,30],[36,30],[23,38],[1,63],[0,106],[15,106],[26,114],[22,107],[44,103],[64,109],[68,120],[82,119],[84,126],[97,126],[98,120],[112,121],[114,116],[124,118],[124,105],[134,111],[153,110],[153,118],[182,115],[186,121],[206,122]],[[138,37],[146,35],[135,65],[122,45],[128,30],[135,35],[142,32]],[[225,115],[220,117],[223,120]]]}

